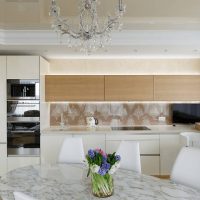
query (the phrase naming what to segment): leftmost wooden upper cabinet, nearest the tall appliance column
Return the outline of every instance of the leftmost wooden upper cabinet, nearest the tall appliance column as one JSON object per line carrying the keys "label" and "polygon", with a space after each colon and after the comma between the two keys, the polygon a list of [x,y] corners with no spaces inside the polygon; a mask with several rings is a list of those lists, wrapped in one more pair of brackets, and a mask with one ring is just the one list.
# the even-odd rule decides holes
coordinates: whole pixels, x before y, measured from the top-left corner
{"label": "leftmost wooden upper cabinet, nearest the tall appliance column", "polygon": [[103,101],[104,76],[46,75],[46,101]]}

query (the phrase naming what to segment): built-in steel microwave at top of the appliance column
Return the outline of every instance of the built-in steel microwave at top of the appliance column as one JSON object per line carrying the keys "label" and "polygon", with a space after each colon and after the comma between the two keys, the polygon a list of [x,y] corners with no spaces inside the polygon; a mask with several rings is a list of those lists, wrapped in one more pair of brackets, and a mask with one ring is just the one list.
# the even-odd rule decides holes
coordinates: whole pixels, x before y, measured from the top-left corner
{"label": "built-in steel microwave at top of the appliance column", "polygon": [[39,80],[8,79],[7,99],[39,99]]}

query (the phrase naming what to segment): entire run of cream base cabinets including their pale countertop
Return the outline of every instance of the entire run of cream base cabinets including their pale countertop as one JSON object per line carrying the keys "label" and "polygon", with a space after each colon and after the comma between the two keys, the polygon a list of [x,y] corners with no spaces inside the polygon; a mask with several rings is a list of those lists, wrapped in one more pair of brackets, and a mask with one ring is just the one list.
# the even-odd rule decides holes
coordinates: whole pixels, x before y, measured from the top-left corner
{"label": "entire run of cream base cabinets including their pale countertop", "polygon": [[42,130],[41,163],[55,164],[60,147],[66,137],[82,137],[84,151],[101,148],[107,153],[117,150],[123,140],[138,141],[142,173],[168,176],[180,148],[184,145],[181,132],[196,131],[194,126],[155,125],[151,130],[112,130],[109,126],[89,128],[86,126],[49,127]]}

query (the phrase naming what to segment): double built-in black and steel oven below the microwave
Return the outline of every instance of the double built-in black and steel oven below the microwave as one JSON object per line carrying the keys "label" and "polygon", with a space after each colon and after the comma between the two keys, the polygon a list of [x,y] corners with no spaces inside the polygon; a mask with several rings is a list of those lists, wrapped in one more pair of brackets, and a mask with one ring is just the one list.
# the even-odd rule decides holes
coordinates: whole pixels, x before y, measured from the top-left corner
{"label": "double built-in black and steel oven below the microwave", "polygon": [[39,100],[7,100],[7,147],[8,156],[40,154]]}

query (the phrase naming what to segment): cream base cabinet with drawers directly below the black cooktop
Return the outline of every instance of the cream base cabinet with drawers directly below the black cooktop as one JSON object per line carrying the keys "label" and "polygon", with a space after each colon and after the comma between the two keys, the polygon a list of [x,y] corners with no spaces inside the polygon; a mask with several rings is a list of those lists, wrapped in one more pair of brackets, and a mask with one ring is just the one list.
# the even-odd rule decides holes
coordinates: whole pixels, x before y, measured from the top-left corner
{"label": "cream base cabinet with drawers directly below the black cooktop", "polygon": [[121,141],[138,141],[142,173],[148,175],[160,174],[159,135],[107,135],[106,152],[117,151]]}

